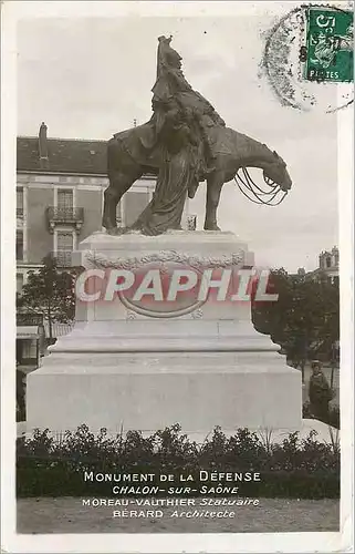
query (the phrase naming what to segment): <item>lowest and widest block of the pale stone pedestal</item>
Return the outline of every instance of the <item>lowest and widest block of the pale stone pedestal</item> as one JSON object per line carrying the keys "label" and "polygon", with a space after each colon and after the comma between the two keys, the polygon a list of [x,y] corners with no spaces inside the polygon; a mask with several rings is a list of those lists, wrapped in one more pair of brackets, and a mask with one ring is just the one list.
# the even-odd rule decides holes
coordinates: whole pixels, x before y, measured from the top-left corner
{"label": "lowest and widest block of the pale stone pedestal", "polygon": [[30,428],[300,429],[300,371],[274,352],[61,353],[55,363],[51,357],[28,378]]}

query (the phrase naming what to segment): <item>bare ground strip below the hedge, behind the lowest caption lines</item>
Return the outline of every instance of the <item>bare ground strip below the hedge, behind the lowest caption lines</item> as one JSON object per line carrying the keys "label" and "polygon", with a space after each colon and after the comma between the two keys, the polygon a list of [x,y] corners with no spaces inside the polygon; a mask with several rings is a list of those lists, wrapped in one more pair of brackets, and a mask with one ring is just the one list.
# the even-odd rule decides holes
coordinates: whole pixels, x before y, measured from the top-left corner
{"label": "bare ground strip below the hedge, behind the lowest caption lines", "polygon": [[[197,509],[221,510],[213,506]],[[165,515],[161,519],[113,517],[113,510],[119,510],[119,506],[84,506],[82,499],[74,497],[20,499],[18,533],[280,533],[340,530],[340,502],[330,499],[260,499],[259,506],[223,506],[223,510],[234,511],[236,516],[219,520],[171,519],[170,514],[176,510],[191,510],[181,506],[163,509]]]}

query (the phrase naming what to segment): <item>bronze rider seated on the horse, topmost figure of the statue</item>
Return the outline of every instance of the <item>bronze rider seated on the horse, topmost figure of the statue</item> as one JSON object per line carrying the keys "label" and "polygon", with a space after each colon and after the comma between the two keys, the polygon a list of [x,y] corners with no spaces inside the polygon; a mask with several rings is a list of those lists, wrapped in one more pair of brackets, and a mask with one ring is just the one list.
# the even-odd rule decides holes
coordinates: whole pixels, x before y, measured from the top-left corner
{"label": "bronze rider seated on the horse, topmost figure of the statue", "polygon": [[181,71],[181,57],[170,47],[171,37],[158,38],[157,80],[152,89],[154,94],[152,106],[154,111],[156,140],[164,127],[167,113],[180,111],[182,117],[189,121],[189,126],[199,147],[198,177],[205,178],[215,170],[215,155],[209,141],[208,129],[220,125],[225,121],[213,106],[197,91],[194,91]]}

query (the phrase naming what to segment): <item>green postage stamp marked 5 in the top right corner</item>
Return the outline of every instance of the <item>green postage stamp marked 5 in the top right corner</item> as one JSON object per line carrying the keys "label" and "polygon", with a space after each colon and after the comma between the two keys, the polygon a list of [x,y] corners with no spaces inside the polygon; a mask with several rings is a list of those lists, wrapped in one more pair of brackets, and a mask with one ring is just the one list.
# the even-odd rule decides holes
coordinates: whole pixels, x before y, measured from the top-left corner
{"label": "green postage stamp marked 5 in the top right corner", "polygon": [[337,8],[306,10],[306,47],[301,52],[307,81],[353,81],[353,12]]}

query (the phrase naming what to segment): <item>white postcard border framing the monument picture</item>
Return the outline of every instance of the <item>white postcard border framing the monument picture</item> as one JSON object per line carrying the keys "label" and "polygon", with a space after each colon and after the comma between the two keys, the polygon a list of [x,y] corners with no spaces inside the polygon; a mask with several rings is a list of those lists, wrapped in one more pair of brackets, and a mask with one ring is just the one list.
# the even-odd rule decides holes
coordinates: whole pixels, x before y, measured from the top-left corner
{"label": "white postcard border framing the monument picture", "polygon": [[[51,534],[15,533],[15,21],[32,17],[114,17],[138,13],[148,16],[182,14],[232,16],[237,2],[4,2],[1,28],[1,505],[2,548],[4,552],[344,552],[353,543],[353,120],[352,109],[338,112],[338,188],[341,250],[341,324],[342,324],[342,497],[340,533],[223,533],[223,534]],[[251,13],[254,4],[238,2]],[[301,2],[300,2],[301,3]],[[281,4],[281,3],[280,3]],[[288,2],[290,10],[299,3]],[[338,4],[338,2],[337,2]],[[284,4],[281,4],[282,11]],[[279,9],[279,8],[278,8]]]}

